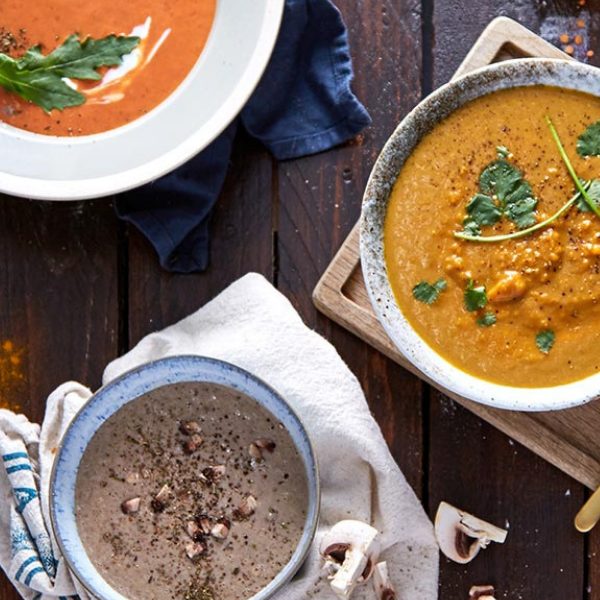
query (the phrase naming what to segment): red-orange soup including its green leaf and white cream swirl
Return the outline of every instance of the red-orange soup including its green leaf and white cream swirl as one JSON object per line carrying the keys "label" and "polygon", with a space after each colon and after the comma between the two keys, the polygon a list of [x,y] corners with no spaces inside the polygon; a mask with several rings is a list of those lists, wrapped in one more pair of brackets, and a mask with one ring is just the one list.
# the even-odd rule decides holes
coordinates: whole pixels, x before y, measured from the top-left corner
{"label": "red-orange soup including its green leaf and white cream swirl", "polygon": [[46,135],[125,125],[197,61],[216,0],[49,0],[0,6],[0,122]]}

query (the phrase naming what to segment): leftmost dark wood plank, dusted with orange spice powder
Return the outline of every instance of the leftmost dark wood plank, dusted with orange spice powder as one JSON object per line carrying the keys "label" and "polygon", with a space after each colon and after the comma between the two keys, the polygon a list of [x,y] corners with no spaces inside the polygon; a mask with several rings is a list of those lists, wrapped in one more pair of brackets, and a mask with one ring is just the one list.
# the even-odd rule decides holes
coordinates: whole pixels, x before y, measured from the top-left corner
{"label": "leftmost dark wood plank, dusted with orange spice powder", "polygon": [[[99,386],[117,355],[117,231],[108,200],[0,197],[0,407],[40,422],[57,385]],[[19,598],[3,574],[0,598]]]}

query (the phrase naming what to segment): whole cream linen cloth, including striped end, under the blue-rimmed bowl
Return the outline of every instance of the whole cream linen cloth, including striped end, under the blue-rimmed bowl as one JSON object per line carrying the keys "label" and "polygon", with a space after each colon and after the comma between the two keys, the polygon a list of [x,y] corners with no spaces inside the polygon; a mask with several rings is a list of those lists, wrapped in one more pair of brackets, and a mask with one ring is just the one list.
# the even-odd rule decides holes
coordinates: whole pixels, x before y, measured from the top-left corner
{"label": "whole cream linen cloth, including striped end, under the blue-rimmed bowl", "polygon": [[[193,315],[148,335],[109,364],[103,382],[177,354],[219,358],[255,373],[286,398],[311,435],[321,470],[321,519],[304,568],[278,600],[335,598],[318,545],[327,528],[348,518],[371,523],[381,532],[380,560],[388,562],[399,600],[437,598],[438,549],[427,515],[390,455],[357,379],[333,346],[302,323],[284,296],[262,276],[246,275]],[[78,591],[49,533],[48,477],[52,450],[88,396],[89,390],[76,383],[58,388],[48,399],[41,433],[23,416],[0,411],[0,453],[18,454],[21,458],[13,460],[31,467],[8,473],[15,463],[5,457],[5,468],[0,468],[0,561],[27,600]],[[29,477],[27,486],[39,491],[25,510],[13,487],[26,485],[10,484],[19,473]],[[15,536],[27,537],[28,544],[19,549]],[[47,566],[40,562],[44,556]],[[29,577],[34,569],[39,570]],[[371,583],[357,588],[352,598],[375,598]]]}

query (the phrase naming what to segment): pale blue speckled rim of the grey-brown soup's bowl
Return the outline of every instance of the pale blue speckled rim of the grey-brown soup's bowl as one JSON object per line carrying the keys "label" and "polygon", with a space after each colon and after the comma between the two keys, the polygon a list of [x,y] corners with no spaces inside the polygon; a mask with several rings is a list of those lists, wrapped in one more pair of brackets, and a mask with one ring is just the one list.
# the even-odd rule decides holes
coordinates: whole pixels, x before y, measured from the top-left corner
{"label": "pale blue speckled rim of the grey-brown soup's bowl", "polygon": [[320,484],[314,450],[300,419],[288,403],[260,379],[232,364],[200,356],[175,356],[143,365],[98,390],[79,411],[58,449],[50,481],[52,528],[72,572],[101,600],[128,600],[98,573],[81,543],[75,520],[75,482],[85,449],[106,420],[141,394],[172,383],[200,381],[234,388],[256,400],[287,428],[302,457],[308,479],[308,509],[300,542],[290,561],[258,594],[267,600],[300,568],[310,548],[319,518]]}

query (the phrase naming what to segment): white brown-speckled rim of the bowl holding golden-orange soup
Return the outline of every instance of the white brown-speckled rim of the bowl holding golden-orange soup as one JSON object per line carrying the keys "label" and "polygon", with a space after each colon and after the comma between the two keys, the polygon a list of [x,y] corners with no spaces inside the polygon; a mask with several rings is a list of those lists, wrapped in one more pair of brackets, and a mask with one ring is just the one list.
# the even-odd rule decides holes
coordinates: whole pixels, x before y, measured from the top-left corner
{"label": "white brown-speckled rim of the bowl holding golden-orange soup", "polygon": [[398,307],[385,265],[383,226],[392,186],[424,135],[470,100],[497,90],[538,84],[600,96],[600,70],[575,61],[519,59],[473,71],[436,90],[400,123],[381,152],[365,191],[360,231],[362,267],[371,302],[407,360],[441,388],[495,408],[522,411],[557,410],[589,402],[600,394],[600,374],[567,385],[525,389],[490,383],[454,367],[425,343]]}

